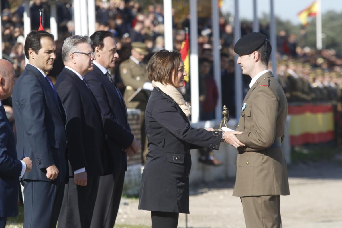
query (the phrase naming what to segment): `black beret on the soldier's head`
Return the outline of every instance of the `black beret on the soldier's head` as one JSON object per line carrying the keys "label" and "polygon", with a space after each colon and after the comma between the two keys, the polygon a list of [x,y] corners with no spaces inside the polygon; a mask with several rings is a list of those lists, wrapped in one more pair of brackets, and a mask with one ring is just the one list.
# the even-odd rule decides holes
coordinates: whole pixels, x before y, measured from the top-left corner
{"label": "black beret on the soldier's head", "polygon": [[267,37],[260,32],[252,32],[241,37],[234,46],[234,51],[238,55],[248,55],[258,50],[265,43]]}

